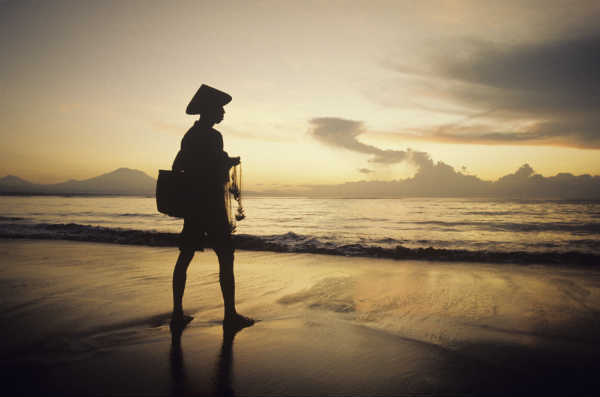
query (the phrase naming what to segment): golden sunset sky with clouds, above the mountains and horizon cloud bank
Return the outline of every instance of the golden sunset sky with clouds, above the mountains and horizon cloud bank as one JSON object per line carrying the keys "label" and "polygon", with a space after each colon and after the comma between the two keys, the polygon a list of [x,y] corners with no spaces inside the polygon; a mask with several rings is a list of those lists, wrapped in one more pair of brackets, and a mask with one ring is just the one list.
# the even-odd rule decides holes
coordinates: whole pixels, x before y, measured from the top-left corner
{"label": "golden sunset sky with clouds, above the mountains and horizon cloud bank", "polygon": [[244,186],[600,175],[598,1],[0,1],[0,176],[156,177],[228,92]]}

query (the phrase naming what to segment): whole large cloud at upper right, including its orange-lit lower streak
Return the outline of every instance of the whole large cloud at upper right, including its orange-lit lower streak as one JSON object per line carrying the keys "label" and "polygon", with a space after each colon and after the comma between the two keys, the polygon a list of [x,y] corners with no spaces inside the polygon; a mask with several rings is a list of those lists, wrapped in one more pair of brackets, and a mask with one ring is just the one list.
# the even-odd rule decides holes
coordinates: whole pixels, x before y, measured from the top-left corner
{"label": "whole large cloud at upper right, including its orange-lit lower streak", "polygon": [[386,66],[477,113],[417,131],[423,139],[600,148],[600,34],[519,45],[468,40],[440,50],[423,72]]}

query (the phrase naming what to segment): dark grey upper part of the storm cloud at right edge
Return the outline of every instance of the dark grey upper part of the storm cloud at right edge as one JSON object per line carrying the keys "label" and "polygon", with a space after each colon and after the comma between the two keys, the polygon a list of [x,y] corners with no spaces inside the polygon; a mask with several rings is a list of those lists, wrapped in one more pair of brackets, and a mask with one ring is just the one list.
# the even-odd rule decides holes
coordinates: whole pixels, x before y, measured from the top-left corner
{"label": "dark grey upper part of the storm cloud at right edge", "polygon": [[[508,48],[471,42],[469,47],[461,56],[440,60],[441,72],[499,90],[481,91],[492,99],[490,105],[545,112],[589,110],[600,103],[600,36]],[[510,100],[502,100],[502,93],[512,94]]]}

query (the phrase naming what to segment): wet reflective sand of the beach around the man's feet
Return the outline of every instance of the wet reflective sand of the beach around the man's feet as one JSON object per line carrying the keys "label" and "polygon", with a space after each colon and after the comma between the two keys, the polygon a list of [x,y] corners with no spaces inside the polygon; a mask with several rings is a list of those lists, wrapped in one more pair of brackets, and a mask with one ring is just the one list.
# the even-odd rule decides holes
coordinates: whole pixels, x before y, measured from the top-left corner
{"label": "wet reflective sand of the beach around the man's feet", "polygon": [[[4,395],[597,395],[600,271],[0,240]],[[173,343],[175,342],[175,343]],[[177,343],[180,342],[180,343]]]}

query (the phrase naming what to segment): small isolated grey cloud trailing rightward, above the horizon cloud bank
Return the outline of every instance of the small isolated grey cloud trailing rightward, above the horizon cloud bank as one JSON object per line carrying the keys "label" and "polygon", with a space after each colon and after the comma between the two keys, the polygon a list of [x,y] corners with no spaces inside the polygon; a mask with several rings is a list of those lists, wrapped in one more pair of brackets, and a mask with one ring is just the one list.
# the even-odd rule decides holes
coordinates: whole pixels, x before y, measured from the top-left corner
{"label": "small isolated grey cloud trailing rightward, above the horizon cloud bank", "polygon": [[396,164],[411,161],[418,166],[431,163],[429,155],[424,152],[407,150],[384,150],[360,142],[357,138],[365,133],[361,121],[347,120],[336,117],[321,117],[310,120],[311,135],[318,141],[337,148],[343,148],[356,153],[372,155],[369,162],[378,164]]}

